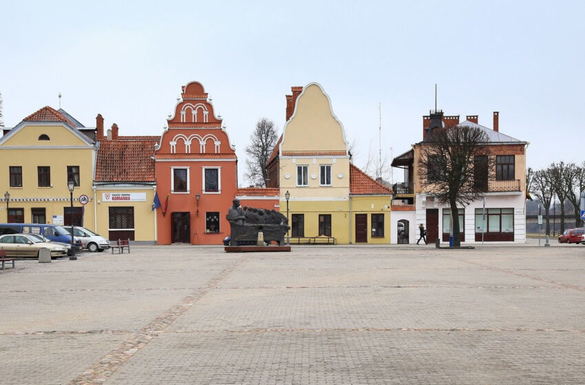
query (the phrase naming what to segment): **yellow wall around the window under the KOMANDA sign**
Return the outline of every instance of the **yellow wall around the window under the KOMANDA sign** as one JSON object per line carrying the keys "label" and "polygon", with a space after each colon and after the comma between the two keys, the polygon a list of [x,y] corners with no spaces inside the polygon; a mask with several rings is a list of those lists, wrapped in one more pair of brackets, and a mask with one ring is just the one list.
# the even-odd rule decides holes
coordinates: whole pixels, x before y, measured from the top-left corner
{"label": "yellow wall around the window under the KOMANDA sign", "polygon": [[[146,192],[146,201],[127,201],[127,202],[105,202],[103,193],[108,192]],[[133,206],[134,207],[134,240],[135,241],[155,241],[155,219],[156,210],[152,211],[152,202],[154,200],[154,188],[136,188],[136,187],[119,187],[119,188],[97,188],[95,191],[95,208],[97,213],[97,232],[100,235],[108,237],[109,234],[109,208],[112,206]],[[161,202],[162,203],[162,202]],[[94,203],[92,202],[92,206]],[[160,210],[160,208],[158,209]],[[86,226],[87,227],[87,226]]]}

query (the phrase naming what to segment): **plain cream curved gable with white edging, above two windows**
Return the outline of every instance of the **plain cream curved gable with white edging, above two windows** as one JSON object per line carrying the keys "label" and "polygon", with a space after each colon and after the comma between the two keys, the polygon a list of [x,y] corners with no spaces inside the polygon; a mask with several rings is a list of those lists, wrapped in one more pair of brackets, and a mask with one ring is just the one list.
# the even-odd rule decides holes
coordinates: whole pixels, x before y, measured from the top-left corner
{"label": "plain cream curved gable with white edging, above two windows", "polygon": [[281,155],[294,153],[347,153],[343,125],[333,113],[321,85],[310,83],[297,98],[295,113],[284,126]]}

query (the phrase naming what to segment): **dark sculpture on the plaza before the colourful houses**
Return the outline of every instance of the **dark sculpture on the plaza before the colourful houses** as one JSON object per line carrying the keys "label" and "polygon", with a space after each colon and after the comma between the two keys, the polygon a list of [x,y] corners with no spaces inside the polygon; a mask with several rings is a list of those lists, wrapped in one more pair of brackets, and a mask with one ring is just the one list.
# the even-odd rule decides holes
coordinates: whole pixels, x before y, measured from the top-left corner
{"label": "dark sculpture on the plaza before the colourful houses", "polygon": [[264,242],[268,245],[275,241],[281,246],[284,245],[284,235],[290,229],[288,219],[280,212],[246,206],[242,208],[239,199],[233,200],[226,219],[231,227],[231,246],[255,245],[258,232],[264,234]]}

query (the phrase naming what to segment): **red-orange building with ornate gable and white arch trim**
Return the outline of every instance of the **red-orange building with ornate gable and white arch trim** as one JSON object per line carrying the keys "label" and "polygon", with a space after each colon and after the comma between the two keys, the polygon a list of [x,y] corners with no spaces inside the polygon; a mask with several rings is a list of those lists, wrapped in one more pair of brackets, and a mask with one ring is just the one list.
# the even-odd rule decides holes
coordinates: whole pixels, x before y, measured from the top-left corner
{"label": "red-orange building with ornate gable and white arch trim", "polygon": [[236,196],[237,157],[201,83],[182,87],[154,153],[158,243],[220,245]]}

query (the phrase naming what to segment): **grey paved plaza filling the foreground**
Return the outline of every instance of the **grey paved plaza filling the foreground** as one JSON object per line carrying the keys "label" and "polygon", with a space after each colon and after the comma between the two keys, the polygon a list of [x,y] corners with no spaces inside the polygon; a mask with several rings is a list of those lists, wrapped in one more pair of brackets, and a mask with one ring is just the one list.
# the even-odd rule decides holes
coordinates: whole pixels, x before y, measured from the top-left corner
{"label": "grey paved plaza filling the foreground", "polygon": [[0,271],[4,384],[584,384],[585,246],[137,246]]}

